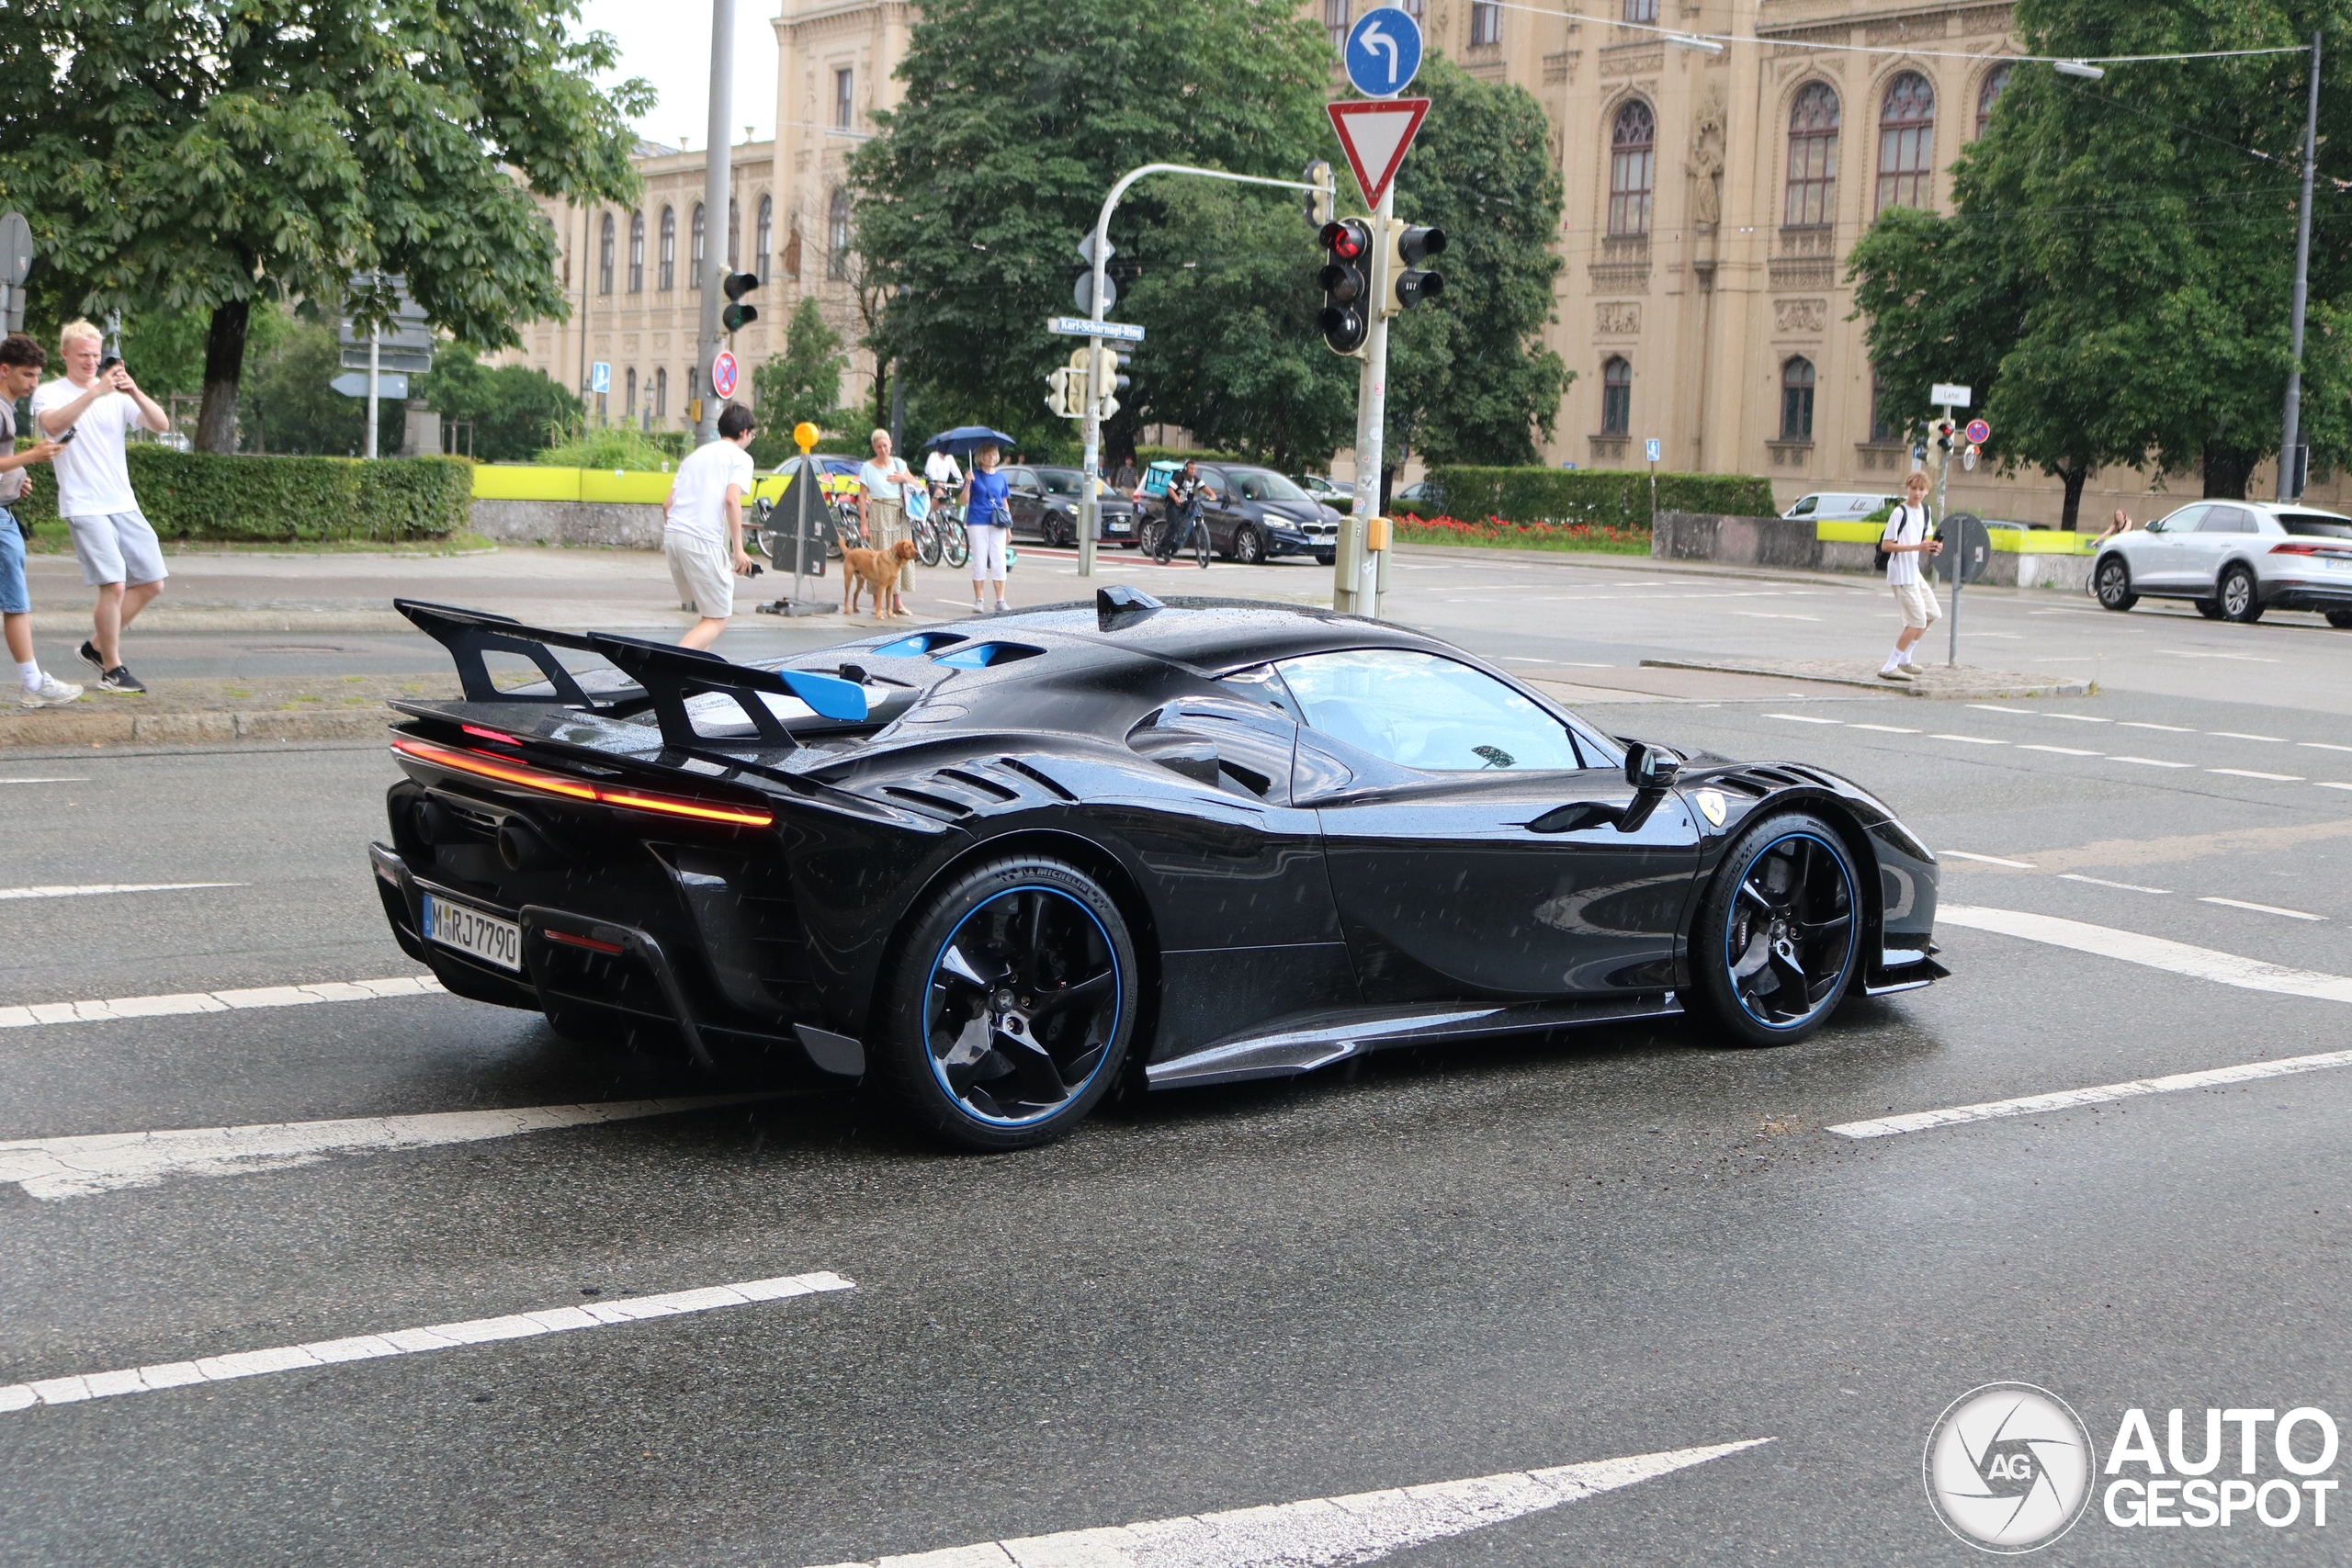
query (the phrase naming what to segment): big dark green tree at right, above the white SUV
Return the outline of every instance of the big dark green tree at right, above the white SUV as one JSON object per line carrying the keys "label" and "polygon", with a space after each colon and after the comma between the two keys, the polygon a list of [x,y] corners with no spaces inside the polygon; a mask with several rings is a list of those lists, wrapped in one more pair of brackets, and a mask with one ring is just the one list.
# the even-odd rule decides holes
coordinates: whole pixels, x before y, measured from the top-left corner
{"label": "big dark green tree at right, above the white SUV", "polygon": [[[2034,54],[2112,56],[2307,45],[2347,0],[2020,0]],[[2328,148],[2352,134],[2345,66],[2319,96],[2303,430],[2352,456],[2352,197]],[[2204,468],[2244,496],[2279,449],[2288,371],[2307,54],[2107,66],[2103,82],[2016,66],[1990,134],[1955,169],[1955,214],[1896,212],[1853,249],[1886,393],[1926,411],[1969,378],[1994,456],[2067,480],[2103,463]]]}

